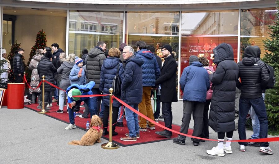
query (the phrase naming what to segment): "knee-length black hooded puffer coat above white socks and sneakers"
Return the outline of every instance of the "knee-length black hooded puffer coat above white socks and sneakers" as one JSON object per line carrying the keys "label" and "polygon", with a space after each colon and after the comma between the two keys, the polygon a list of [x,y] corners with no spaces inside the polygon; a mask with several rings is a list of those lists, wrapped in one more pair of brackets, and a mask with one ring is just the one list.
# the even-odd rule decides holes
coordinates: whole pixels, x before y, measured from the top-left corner
{"label": "knee-length black hooded puffer coat above white socks and sneakers", "polygon": [[216,132],[235,130],[234,101],[238,81],[238,66],[233,60],[232,46],[222,43],[213,50],[216,71],[209,75],[212,100],[208,125]]}

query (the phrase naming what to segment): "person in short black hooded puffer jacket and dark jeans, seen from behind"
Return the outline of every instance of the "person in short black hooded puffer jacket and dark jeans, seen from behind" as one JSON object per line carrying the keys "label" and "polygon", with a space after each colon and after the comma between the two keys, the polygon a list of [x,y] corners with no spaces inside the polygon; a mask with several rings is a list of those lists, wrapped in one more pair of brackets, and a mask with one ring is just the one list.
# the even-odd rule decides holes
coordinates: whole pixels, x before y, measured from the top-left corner
{"label": "person in short black hooded puffer jacket and dark jeans, seen from behind", "polygon": [[[248,46],[244,50],[244,58],[238,62],[241,78],[241,96],[239,99],[238,135],[240,140],[246,140],[245,120],[252,106],[260,122],[259,138],[268,137],[268,120],[262,90],[268,84],[269,75],[266,65],[257,57],[258,47]],[[245,152],[246,142],[238,142],[239,150]],[[260,143],[260,152],[273,154],[268,142]]]}

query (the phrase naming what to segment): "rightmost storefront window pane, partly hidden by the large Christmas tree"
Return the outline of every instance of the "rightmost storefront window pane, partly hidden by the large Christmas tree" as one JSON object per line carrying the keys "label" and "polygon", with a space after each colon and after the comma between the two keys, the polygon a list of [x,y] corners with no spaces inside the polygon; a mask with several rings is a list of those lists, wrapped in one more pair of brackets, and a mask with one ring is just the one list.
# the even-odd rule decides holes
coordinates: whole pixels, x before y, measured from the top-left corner
{"label": "rightmost storefront window pane, partly hidden by the large Christmas tree", "polygon": [[276,8],[243,9],[240,20],[240,58],[248,45],[261,49],[261,58],[265,54],[263,40],[270,38],[268,25],[276,19]]}

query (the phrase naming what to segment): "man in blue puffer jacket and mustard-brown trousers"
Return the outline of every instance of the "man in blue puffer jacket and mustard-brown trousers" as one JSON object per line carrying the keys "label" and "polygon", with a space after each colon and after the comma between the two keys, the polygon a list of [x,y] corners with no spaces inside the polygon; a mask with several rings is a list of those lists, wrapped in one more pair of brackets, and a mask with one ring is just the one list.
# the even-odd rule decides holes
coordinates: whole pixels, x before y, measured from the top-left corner
{"label": "man in blue puffer jacket and mustard-brown trousers", "polygon": [[[147,45],[144,41],[137,41],[135,43],[137,47],[136,56],[141,57],[144,60],[142,68],[142,101],[139,103],[139,112],[154,120],[153,109],[151,105],[151,89],[155,87],[155,80],[160,77],[160,69],[157,60],[153,53],[147,50]],[[139,131],[155,130],[155,125],[152,122],[146,123],[146,119],[139,117]]]}

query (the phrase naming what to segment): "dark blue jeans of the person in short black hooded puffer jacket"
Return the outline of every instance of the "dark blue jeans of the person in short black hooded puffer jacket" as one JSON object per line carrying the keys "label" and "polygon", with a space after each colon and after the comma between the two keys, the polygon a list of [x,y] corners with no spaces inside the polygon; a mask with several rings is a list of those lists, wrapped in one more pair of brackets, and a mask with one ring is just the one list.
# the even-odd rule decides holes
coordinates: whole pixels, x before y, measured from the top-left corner
{"label": "dark blue jeans of the person in short black hooded puffer jacket", "polygon": [[[246,116],[253,107],[256,115],[259,118],[260,131],[259,138],[267,138],[268,133],[268,120],[265,109],[265,104],[262,97],[256,99],[247,99],[240,97],[239,99],[239,119],[238,119],[238,135],[240,140],[246,140],[245,120]],[[246,142],[238,142],[238,144],[247,145]],[[261,147],[268,147],[268,142],[261,142]]]}

